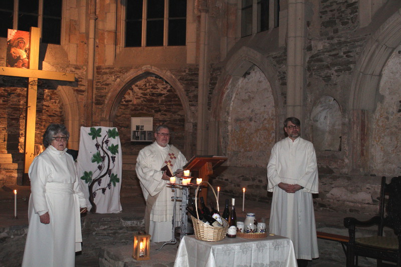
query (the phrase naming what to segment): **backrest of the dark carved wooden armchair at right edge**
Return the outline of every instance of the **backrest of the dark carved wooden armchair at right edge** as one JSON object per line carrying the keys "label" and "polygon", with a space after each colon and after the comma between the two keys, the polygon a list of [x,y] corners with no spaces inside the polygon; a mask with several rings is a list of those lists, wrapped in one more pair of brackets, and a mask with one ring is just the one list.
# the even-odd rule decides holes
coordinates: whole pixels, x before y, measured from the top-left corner
{"label": "backrest of the dark carved wooden armchair at right edge", "polygon": [[[385,195],[388,195],[386,201]],[[385,204],[384,213],[383,207],[385,202],[387,203]],[[382,235],[383,226],[392,228],[394,233],[398,235],[401,229],[401,176],[393,177],[388,184],[385,183],[385,177],[382,178],[380,216],[382,218],[382,225],[380,225],[379,235]]]}

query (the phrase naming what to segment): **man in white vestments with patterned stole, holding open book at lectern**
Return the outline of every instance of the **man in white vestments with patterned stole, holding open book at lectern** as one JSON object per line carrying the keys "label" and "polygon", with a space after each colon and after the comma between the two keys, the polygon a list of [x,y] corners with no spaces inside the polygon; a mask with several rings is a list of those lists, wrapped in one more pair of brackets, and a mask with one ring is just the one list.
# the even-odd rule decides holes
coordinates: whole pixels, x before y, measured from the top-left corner
{"label": "man in white vestments with patterned stole, holding open book at lectern", "polygon": [[[184,155],[173,145],[169,145],[170,128],[159,125],[154,133],[153,144],[139,151],[136,159],[136,175],[139,178],[142,193],[146,201],[145,228],[151,235],[152,242],[170,241],[172,238],[172,215],[174,192],[167,187],[170,177],[160,169],[169,164],[175,172],[186,163]],[[175,176],[180,178],[183,172]],[[174,189],[177,190],[177,189]],[[181,196],[177,191],[177,196]],[[176,221],[180,220],[179,205],[176,205]]]}

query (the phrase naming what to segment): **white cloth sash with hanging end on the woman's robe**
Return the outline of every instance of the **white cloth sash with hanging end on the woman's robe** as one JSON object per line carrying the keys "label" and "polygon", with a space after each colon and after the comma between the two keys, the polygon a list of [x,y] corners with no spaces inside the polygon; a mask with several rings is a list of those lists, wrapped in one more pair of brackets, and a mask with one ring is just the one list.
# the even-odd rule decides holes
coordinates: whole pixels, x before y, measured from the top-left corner
{"label": "white cloth sash with hanging end on the woman's robe", "polygon": [[[79,197],[74,191],[73,183],[46,183],[46,192],[50,194],[68,194],[74,197],[74,213],[75,213],[75,250],[81,250],[82,233],[81,233],[81,214],[79,212]],[[79,250],[77,250],[79,249]]]}

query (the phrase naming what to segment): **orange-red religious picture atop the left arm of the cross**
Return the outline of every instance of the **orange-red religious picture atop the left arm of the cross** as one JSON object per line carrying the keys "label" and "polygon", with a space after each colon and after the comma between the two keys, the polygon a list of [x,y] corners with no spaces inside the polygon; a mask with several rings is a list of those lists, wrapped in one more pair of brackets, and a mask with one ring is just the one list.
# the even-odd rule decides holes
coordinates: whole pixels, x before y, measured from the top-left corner
{"label": "orange-red religious picture atop the left arm of the cross", "polygon": [[7,36],[7,67],[28,69],[29,36],[29,32],[9,29]]}

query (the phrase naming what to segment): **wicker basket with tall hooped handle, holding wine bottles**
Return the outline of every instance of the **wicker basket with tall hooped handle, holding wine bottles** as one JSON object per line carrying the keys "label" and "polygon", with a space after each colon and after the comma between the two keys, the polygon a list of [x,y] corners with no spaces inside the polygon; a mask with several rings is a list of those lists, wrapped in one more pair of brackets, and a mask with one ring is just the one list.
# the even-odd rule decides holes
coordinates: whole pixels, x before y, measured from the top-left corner
{"label": "wicker basket with tall hooped handle, holding wine bottles", "polygon": [[[204,181],[202,183],[208,183],[210,185],[210,188],[212,188],[213,193],[215,194],[215,197],[216,197],[216,201],[217,201],[217,209],[219,210],[219,201],[217,199],[215,189],[213,189],[212,185],[207,181]],[[202,183],[200,183],[200,184],[202,184]],[[196,207],[197,218],[195,218],[191,215],[192,224],[193,224],[193,233],[195,234],[195,238],[199,239],[199,240],[203,240],[203,241],[223,240],[224,237],[226,237],[227,230],[229,228],[229,223],[227,222],[227,220],[222,218],[223,227],[218,228],[218,227],[214,227],[212,225],[206,224],[203,221],[198,219],[199,213],[197,212],[197,191],[199,190],[199,185],[196,187],[196,190],[195,190],[195,207]]]}

